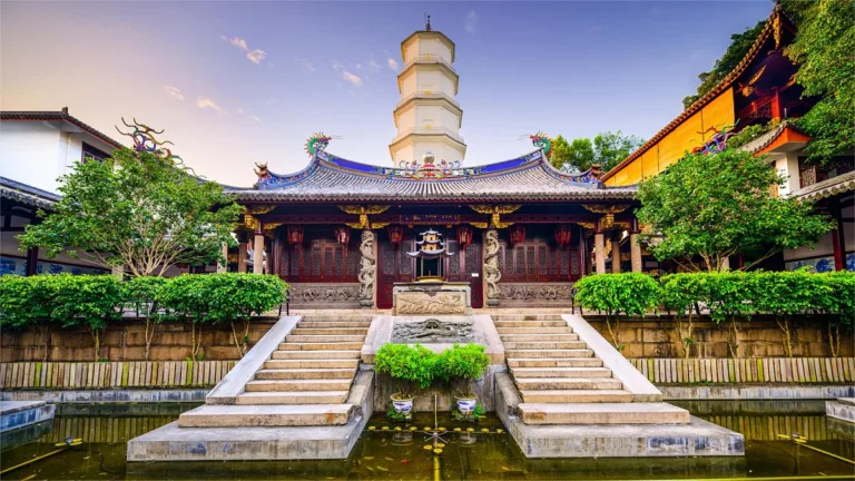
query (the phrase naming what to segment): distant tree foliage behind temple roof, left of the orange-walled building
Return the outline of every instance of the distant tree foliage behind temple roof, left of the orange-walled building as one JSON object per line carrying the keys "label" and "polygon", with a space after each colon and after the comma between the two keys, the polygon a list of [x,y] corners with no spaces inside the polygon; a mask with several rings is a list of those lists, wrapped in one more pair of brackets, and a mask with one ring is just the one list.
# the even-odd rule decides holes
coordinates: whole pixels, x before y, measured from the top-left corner
{"label": "distant tree foliage behind temple roof, left of the orange-walled building", "polygon": [[620,130],[597,134],[593,140],[582,137],[568,143],[562,136],[552,139],[552,165],[556,168],[584,171],[599,165],[607,171],[645,143],[638,136]]}

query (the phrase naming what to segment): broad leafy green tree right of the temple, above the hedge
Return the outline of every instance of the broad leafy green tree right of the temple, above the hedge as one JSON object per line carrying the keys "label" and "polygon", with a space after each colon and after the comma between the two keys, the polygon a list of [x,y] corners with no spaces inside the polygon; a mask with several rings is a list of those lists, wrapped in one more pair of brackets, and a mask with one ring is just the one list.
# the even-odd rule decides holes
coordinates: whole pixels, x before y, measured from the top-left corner
{"label": "broad leafy green tree right of the temple, above the hedge", "polygon": [[832,224],[812,215],[809,202],[773,195],[783,183],[764,157],[746,151],[689,154],[641,183],[638,218],[661,236],[643,237],[659,261],[692,271],[723,271],[735,254],[754,259],[743,267],[748,268],[784,249],[816,244]]}

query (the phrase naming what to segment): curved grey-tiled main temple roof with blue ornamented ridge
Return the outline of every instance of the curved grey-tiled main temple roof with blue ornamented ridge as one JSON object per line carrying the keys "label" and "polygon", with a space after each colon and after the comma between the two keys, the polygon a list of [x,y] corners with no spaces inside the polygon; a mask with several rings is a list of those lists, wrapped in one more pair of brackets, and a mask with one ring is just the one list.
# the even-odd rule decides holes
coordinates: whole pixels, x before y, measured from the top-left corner
{"label": "curved grey-tiled main temple roof with blue ornamented ridge", "polygon": [[[321,158],[325,157],[325,158]],[[336,158],[326,153],[291,176],[254,189],[227,188],[243,202],[515,202],[629,200],[637,188],[574,181],[554,169],[540,150],[473,174],[441,179],[405,178],[381,167]],[[574,178],[578,179],[578,176]]]}

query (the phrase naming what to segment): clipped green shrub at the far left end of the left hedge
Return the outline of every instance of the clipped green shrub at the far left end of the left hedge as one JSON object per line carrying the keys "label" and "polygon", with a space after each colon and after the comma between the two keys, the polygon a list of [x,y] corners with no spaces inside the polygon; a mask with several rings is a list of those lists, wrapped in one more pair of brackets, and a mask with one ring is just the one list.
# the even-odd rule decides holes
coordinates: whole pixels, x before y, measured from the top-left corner
{"label": "clipped green shrub at the far left end of the left hedge", "polygon": [[36,328],[46,362],[50,354],[50,328],[56,323],[53,281],[49,275],[0,277],[0,331]]}

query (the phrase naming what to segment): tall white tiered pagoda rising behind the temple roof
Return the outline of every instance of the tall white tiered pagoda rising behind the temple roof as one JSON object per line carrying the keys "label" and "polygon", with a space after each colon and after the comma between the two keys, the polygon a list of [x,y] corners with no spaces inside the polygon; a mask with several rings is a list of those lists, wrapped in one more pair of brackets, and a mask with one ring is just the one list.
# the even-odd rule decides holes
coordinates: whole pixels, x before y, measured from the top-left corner
{"label": "tall white tiered pagoda rising behind the temple roof", "polygon": [[389,145],[392,163],[420,160],[433,154],[436,163],[462,163],[466,143],[460,136],[463,109],[454,99],[458,73],[454,71],[454,42],[431,30],[431,18],[401,42],[404,67],[397,75],[401,100],[394,110],[397,135]]}

